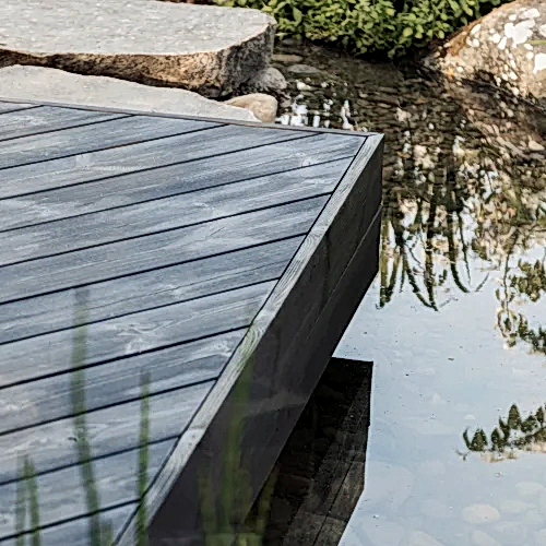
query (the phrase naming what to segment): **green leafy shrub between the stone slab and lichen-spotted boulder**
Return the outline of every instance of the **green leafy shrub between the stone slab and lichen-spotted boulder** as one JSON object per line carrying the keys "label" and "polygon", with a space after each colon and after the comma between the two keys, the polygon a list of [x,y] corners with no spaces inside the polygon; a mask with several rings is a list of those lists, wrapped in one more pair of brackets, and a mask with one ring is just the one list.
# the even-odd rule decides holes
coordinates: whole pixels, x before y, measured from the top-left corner
{"label": "green leafy shrub between the stone slab and lichen-spotted boulder", "polygon": [[273,15],[280,36],[335,41],[390,57],[442,39],[503,0],[215,0]]}

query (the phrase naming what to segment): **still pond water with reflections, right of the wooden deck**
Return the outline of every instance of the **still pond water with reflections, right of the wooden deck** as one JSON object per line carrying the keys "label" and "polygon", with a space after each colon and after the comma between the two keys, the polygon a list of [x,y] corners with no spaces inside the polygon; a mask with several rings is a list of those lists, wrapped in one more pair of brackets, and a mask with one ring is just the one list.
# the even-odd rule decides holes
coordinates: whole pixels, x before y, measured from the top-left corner
{"label": "still pond water with reflections, right of the wooden deck", "polygon": [[299,544],[546,545],[544,118],[411,66],[274,60],[278,122],[385,134],[380,271],[335,355],[372,363],[365,477],[348,522]]}

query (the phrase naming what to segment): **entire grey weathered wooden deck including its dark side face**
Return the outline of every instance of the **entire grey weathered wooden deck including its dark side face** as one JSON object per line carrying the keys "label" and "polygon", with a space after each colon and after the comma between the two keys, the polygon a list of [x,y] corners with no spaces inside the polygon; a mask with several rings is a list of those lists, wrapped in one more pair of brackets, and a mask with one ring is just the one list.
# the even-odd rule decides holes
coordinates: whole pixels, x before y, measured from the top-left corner
{"label": "entire grey weathered wooden deck including its dark side face", "polygon": [[377,272],[381,136],[3,102],[0,144],[0,544],[227,533]]}

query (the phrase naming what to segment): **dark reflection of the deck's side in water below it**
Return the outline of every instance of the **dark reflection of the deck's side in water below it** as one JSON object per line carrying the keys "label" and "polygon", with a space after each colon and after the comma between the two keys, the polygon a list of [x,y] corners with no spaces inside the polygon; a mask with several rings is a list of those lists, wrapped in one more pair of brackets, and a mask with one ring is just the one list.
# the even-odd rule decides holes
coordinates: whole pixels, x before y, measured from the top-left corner
{"label": "dark reflection of the deck's side in water below it", "polygon": [[273,484],[261,546],[339,543],[364,490],[371,378],[371,363],[330,360],[247,520]]}

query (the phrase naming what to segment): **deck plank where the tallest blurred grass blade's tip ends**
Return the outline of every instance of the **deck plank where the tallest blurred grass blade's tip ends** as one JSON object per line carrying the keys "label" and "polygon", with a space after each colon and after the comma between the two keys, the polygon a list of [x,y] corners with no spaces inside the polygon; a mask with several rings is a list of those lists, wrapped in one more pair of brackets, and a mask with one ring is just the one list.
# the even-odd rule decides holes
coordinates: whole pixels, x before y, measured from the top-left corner
{"label": "deck plank where the tallest blurred grass blade's tip ends", "polygon": [[[278,278],[301,241],[293,237],[91,284],[85,323]],[[68,289],[3,305],[0,343],[72,328],[75,297]]]}

